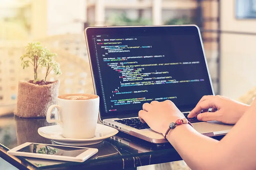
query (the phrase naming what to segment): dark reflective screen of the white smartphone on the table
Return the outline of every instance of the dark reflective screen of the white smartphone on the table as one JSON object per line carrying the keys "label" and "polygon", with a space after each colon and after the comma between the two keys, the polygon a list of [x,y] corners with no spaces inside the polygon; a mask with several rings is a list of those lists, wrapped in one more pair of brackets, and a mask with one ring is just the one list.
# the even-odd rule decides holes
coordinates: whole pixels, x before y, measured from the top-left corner
{"label": "dark reflective screen of the white smartphone on the table", "polygon": [[46,155],[58,155],[58,156],[69,156],[76,157],[88,149],[73,148],[65,146],[52,146],[45,144],[30,144],[21,148],[17,152],[28,152],[28,153],[40,153]]}

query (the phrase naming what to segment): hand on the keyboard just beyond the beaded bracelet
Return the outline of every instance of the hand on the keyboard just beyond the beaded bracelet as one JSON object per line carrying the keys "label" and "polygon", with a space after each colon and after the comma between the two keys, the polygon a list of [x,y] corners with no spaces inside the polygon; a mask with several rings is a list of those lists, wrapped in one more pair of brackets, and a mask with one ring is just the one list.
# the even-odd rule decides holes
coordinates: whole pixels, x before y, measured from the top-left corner
{"label": "hand on the keyboard just beyond the beaded bracelet", "polygon": [[146,122],[152,130],[163,135],[165,135],[171,122],[185,118],[170,100],[163,102],[152,101],[150,104],[144,103],[142,108],[143,110],[139,111],[141,122]]}

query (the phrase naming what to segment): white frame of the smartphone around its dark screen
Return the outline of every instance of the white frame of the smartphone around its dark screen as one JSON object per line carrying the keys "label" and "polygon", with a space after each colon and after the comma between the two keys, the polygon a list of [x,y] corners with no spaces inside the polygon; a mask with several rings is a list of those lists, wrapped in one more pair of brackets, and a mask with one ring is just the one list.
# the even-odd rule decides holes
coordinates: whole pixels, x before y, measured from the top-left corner
{"label": "white frame of the smartphone around its dark screen", "polygon": [[19,152],[20,149],[30,145],[30,144],[40,144],[40,143],[31,143],[26,142],[21,144],[9,151],[7,153],[16,156],[25,156],[25,157],[32,157],[32,158],[43,158],[43,159],[53,159],[53,160],[64,160],[64,161],[74,161],[74,162],[83,162],[84,160],[90,158],[92,155],[98,152],[96,148],[86,148],[86,147],[79,147],[79,146],[66,146],[66,145],[55,145],[55,144],[42,144],[47,146],[58,146],[58,147],[69,147],[69,148],[79,148],[79,149],[87,149],[86,151],[82,152],[81,154],[77,155],[76,157],[69,157],[69,156],[60,156],[60,155],[46,155],[42,153],[30,153],[30,152]]}

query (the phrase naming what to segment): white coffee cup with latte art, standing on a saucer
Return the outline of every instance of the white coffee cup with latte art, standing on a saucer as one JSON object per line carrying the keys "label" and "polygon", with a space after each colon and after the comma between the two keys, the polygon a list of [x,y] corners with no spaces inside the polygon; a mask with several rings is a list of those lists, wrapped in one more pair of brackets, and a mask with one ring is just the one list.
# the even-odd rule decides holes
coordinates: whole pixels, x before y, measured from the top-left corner
{"label": "white coffee cup with latte art, standing on a saucer", "polygon": [[[58,96],[57,104],[49,107],[46,121],[60,123],[63,137],[74,139],[94,137],[99,114],[99,96],[64,94]],[[58,109],[58,119],[51,119],[54,107]]]}

